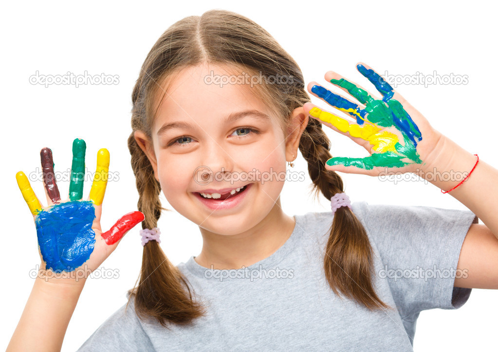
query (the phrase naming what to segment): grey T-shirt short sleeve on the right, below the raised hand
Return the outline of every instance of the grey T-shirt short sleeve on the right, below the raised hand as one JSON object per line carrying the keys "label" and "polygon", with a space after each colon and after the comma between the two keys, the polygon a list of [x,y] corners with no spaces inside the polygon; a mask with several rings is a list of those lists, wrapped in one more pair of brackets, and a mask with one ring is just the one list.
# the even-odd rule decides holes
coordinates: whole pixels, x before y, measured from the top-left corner
{"label": "grey T-shirt short sleeve on the right, below the raised hand", "polygon": [[[382,269],[402,319],[422,310],[460,308],[472,289],[454,287],[465,236],[477,217],[469,210],[426,206],[354,204],[377,248]],[[460,275],[460,276],[458,276]]]}

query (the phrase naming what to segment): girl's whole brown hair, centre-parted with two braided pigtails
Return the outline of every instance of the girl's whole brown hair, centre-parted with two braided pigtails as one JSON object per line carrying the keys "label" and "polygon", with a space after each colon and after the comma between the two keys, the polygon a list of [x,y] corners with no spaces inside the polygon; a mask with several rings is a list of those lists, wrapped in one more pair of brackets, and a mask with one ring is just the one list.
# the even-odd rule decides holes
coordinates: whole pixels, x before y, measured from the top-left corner
{"label": "girl's whole brown hair, centre-parted with two braided pigtails", "polygon": [[[159,83],[177,70],[202,63],[218,63],[264,77],[291,77],[292,84],[256,85],[258,96],[278,112],[281,126],[288,126],[292,111],[310,101],[303,75],[292,57],[275,39],[250,19],[226,10],[210,10],[189,16],[170,26],[148,53],[132,93],[132,133],[128,138],[131,166],[136,176],[138,210],[145,214],[142,227],[157,226],[161,215],[161,188],[152,166],[137,145],[136,130],[151,142],[154,103]],[[277,76],[279,75],[279,76]],[[343,192],[343,182],[324,168],[331,158],[330,140],[317,120],[310,118],[301,136],[299,150],[308,163],[315,196],[327,199]],[[166,209],[164,209],[166,210]],[[373,252],[365,228],[348,207],[334,216],[324,257],[324,269],[332,290],[355,300],[370,310],[391,308],[376,295],[372,284]],[[156,241],[143,248],[142,268],[136,286],[128,292],[135,299],[138,316],[156,318],[159,323],[188,324],[206,313],[194,300],[193,290],[179,269],[171,264]]]}

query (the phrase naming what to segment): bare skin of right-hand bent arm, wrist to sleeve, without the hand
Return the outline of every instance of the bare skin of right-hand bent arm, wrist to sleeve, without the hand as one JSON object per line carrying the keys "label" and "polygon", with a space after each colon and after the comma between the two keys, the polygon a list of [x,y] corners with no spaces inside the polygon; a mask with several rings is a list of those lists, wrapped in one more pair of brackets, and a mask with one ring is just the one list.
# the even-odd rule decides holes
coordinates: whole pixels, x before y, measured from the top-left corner
{"label": "bare skin of right-hand bent arm, wrist to sleeve, without the hand", "polygon": [[[477,158],[452,140],[443,137],[439,143],[441,153],[427,170],[441,174],[470,172]],[[451,174],[450,174],[451,175]],[[457,268],[466,270],[467,276],[455,278],[455,287],[498,289],[498,170],[479,160],[465,182],[448,192],[469,208],[484,225],[472,224],[460,251]],[[459,181],[430,181],[446,191]]]}

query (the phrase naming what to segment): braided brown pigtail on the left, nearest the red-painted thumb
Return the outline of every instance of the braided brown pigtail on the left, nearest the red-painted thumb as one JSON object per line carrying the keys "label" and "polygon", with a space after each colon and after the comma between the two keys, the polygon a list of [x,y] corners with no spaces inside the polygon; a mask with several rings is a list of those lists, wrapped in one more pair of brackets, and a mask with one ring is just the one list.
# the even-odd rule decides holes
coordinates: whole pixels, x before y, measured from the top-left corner
{"label": "braided brown pigtail on the left, nearest the red-painted thumb", "polygon": [[[128,149],[139,194],[138,210],[145,215],[142,228],[152,229],[157,226],[161,210],[167,210],[161,207],[159,200],[161,186],[133,133],[128,138]],[[205,314],[202,305],[193,300],[187,279],[154,240],[143,247],[142,268],[137,282],[138,286],[135,283],[128,293],[130,298],[134,297],[135,312],[142,319],[155,318],[167,328],[166,322],[186,325]]]}

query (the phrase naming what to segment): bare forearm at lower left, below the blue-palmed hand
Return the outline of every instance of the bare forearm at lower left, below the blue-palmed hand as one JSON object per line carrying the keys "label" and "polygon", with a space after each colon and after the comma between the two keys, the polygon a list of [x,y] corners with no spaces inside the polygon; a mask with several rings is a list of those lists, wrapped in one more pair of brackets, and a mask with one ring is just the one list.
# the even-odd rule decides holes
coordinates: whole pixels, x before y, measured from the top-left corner
{"label": "bare forearm at lower left, below the blue-palmed hand", "polygon": [[8,351],[60,351],[67,326],[83,289],[36,277]]}

